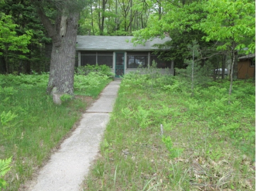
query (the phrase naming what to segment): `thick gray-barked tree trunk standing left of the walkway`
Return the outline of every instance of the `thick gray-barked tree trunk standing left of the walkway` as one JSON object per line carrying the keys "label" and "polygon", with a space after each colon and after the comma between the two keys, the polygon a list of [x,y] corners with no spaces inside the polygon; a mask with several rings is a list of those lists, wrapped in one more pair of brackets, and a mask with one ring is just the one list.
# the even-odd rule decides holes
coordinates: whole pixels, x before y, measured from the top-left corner
{"label": "thick gray-barked tree trunk standing left of the walkway", "polygon": [[[72,12],[62,15],[61,19],[58,17],[56,19],[57,23],[55,23],[55,26],[58,26],[56,28],[53,27],[50,19],[46,17],[45,12],[41,8],[38,8],[38,14],[48,35],[52,38],[51,66],[47,93],[52,93],[52,89],[55,88],[56,93],[72,95],[79,13]],[[62,26],[63,23],[65,23],[64,26]]]}

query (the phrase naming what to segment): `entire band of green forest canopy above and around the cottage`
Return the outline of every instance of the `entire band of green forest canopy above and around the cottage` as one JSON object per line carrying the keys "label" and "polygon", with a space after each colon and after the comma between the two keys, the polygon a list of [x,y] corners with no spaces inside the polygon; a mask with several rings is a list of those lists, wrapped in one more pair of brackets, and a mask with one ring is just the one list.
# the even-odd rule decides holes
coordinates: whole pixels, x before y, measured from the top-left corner
{"label": "entire band of green forest canopy above and around the cottage", "polygon": [[[42,6],[53,26],[58,9],[76,7],[69,1],[50,2]],[[170,36],[172,41],[159,46],[170,48],[175,67],[186,67],[193,41],[199,44],[201,62],[213,68],[223,65],[223,57],[228,61],[234,54],[237,60],[255,53],[252,0],[90,0],[79,7],[78,35],[134,36],[135,44]],[[52,39],[35,2],[4,0],[0,9],[0,73],[48,72]]]}

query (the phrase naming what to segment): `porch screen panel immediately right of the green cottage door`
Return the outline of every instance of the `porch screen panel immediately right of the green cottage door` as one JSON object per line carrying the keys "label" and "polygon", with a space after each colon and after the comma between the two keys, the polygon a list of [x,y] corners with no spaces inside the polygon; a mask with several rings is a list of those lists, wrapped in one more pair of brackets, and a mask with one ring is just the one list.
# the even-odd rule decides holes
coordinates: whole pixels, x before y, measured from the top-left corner
{"label": "porch screen panel immediately right of the green cottage door", "polygon": [[147,52],[127,52],[127,68],[147,68]]}

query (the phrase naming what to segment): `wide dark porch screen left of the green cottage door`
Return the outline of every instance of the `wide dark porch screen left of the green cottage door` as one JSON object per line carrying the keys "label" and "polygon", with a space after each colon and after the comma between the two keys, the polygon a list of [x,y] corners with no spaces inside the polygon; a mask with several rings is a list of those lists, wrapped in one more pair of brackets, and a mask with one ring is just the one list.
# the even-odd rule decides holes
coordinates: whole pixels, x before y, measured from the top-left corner
{"label": "wide dark porch screen left of the green cottage door", "polygon": [[90,65],[106,65],[113,67],[113,52],[81,52],[81,66]]}

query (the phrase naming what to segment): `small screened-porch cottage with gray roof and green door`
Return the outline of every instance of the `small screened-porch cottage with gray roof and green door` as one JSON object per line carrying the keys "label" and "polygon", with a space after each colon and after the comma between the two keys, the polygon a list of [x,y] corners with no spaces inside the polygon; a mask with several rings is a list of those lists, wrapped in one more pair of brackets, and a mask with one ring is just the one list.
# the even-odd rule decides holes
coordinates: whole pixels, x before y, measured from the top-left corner
{"label": "small screened-porch cottage with gray roof and green door", "polygon": [[[131,36],[77,36],[78,62],[77,66],[86,64],[106,64],[116,77],[134,71],[145,71],[152,62],[157,63],[160,73],[174,74],[174,62],[164,61],[153,54],[154,44],[163,44],[170,41],[170,37],[156,38],[148,41],[145,46],[131,43]],[[161,49],[167,51],[168,49]]]}

